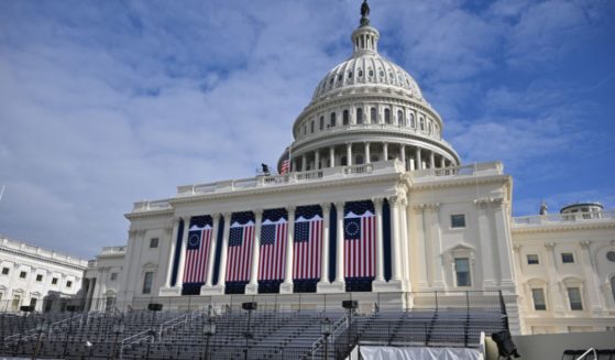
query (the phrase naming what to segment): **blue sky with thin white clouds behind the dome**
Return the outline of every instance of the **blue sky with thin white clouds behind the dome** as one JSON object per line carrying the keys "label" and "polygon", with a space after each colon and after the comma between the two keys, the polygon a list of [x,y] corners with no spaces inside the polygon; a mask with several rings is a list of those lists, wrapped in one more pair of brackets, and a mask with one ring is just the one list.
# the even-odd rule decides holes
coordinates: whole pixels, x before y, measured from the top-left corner
{"label": "blue sky with thin white clouds behind the dome", "polygon": [[[275,165],[360,0],[0,1],[0,233],[92,258],[176,186]],[[615,1],[371,0],[381,53],[513,212],[615,208]]]}

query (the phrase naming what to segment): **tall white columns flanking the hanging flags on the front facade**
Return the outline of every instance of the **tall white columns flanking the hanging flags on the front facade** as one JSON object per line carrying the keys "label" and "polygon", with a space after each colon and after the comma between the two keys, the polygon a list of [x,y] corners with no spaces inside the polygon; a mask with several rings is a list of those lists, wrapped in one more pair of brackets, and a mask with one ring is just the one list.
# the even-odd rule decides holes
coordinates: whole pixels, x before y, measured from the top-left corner
{"label": "tall white columns flanking the hanging flags on the front facade", "polygon": [[[406,229],[402,229],[405,226],[405,221],[400,221],[402,217],[406,217],[405,207],[402,206],[402,201],[398,197],[388,198],[391,206],[391,254],[392,254],[392,277],[393,281],[399,281],[402,279],[402,251],[407,249],[402,249],[402,244],[407,243],[407,241],[402,241],[402,238],[406,236]],[[375,281],[385,282],[384,279],[384,249],[383,249],[383,203],[384,198],[373,199],[375,217],[376,217],[376,269],[375,269]],[[334,203],[337,209],[337,234],[334,237],[336,241],[336,277],[334,283],[344,283],[344,203]],[[322,208],[323,216],[323,227],[322,227],[322,253],[321,253],[321,277],[320,284],[329,284],[329,231],[330,231],[330,210],[331,204],[325,203],[320,205]],[[293,288],[293,244],[294,244],[294,233],[295,233],[295,206],[287,206],[286,210],[288,212],[288,233],[286,238],[286,261],[284,271],[284,281],[281,286],[281,292],[292,292]],[[226,270],[227,270],[227,257],[229,248],[229,233],[231,225],[231,212],[223,214],[224,227],[222,229],[222,249],[220,252],[220,268],[218,272],[218,287],[221,287],[226,283]],[[262,210],[254,210],[255,215],[255,233],[252,248],[252,268],[250,272],[250,282],[246,287],[246,292],[255,293],[257,291],[257,274],[259,274],[259,259],[260,259],[260,248],[261,248],[261,225],[262,225]],[[213,274],[213,263],[217,247],[217,239],[219,232],[220,214],[213,214],[213,230],[212,230],[212,241],[210,241],[209,259],[207,261],[207,277],[205,282],[206,287],[212,286],[212,274]],[[182,234],[180,242],[180,257],[179,263],[177,265],[177,280],[175,283],[176,287],[183,286],[183,274],[186,263],[186,248],[187,238],[189,230],[190,217],[177,218],[174,221],[173,233],[177,234],[179,230],[179,221],[184,221],[184,232]],[[173,282],[173,260],[175,259],[176,242],[172,240],[171,251],[168,255],[168,268],[166,273],[165,287],[172,287]]]}

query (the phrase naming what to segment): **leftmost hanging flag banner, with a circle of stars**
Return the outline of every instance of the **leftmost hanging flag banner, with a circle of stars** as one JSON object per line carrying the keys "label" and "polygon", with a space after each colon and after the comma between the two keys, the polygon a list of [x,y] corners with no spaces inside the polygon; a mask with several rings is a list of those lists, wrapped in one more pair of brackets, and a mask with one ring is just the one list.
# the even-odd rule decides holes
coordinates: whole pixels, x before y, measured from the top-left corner
{"label": "leftmost hanging flag banner, with a circle of stars", "polygon": [[212,228],[209,223],[205,227],[194,225],[188,231],[184,283],[205,283],[211,246],[211,231]]}

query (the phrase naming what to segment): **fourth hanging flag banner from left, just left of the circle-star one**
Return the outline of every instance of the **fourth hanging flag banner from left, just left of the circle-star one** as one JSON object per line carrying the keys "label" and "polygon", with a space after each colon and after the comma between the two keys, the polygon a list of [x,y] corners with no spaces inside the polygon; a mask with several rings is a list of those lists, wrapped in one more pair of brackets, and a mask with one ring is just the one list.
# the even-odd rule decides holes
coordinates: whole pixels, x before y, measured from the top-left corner
{"label": "fourth hanging flag banner from left, just left of the circle-star one", "polygon": [[322,210],[320,206],[299,207],[295,218],[293,279],[319,280],[322,261]]}

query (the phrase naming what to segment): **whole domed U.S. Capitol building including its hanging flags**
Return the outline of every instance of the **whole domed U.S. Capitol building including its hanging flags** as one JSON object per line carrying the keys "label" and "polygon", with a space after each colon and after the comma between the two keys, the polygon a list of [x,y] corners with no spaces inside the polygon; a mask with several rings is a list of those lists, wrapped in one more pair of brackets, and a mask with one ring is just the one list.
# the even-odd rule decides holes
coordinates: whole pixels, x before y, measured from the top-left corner
{"label": "whole domed U.S. Capitol building including its hanging flags", "polygon": [[425,292],[501,291],[514,332],[615,328],[614,214],[513,218],[503,164],[461,163],[415,79],[378,54],[367,14],[293,123],[282,174],[135,203],[128,244],[86,271],[84,293],[105,299],[88,306],[315,294],[303,306],[319,307],[352,293],[410,307]]}

